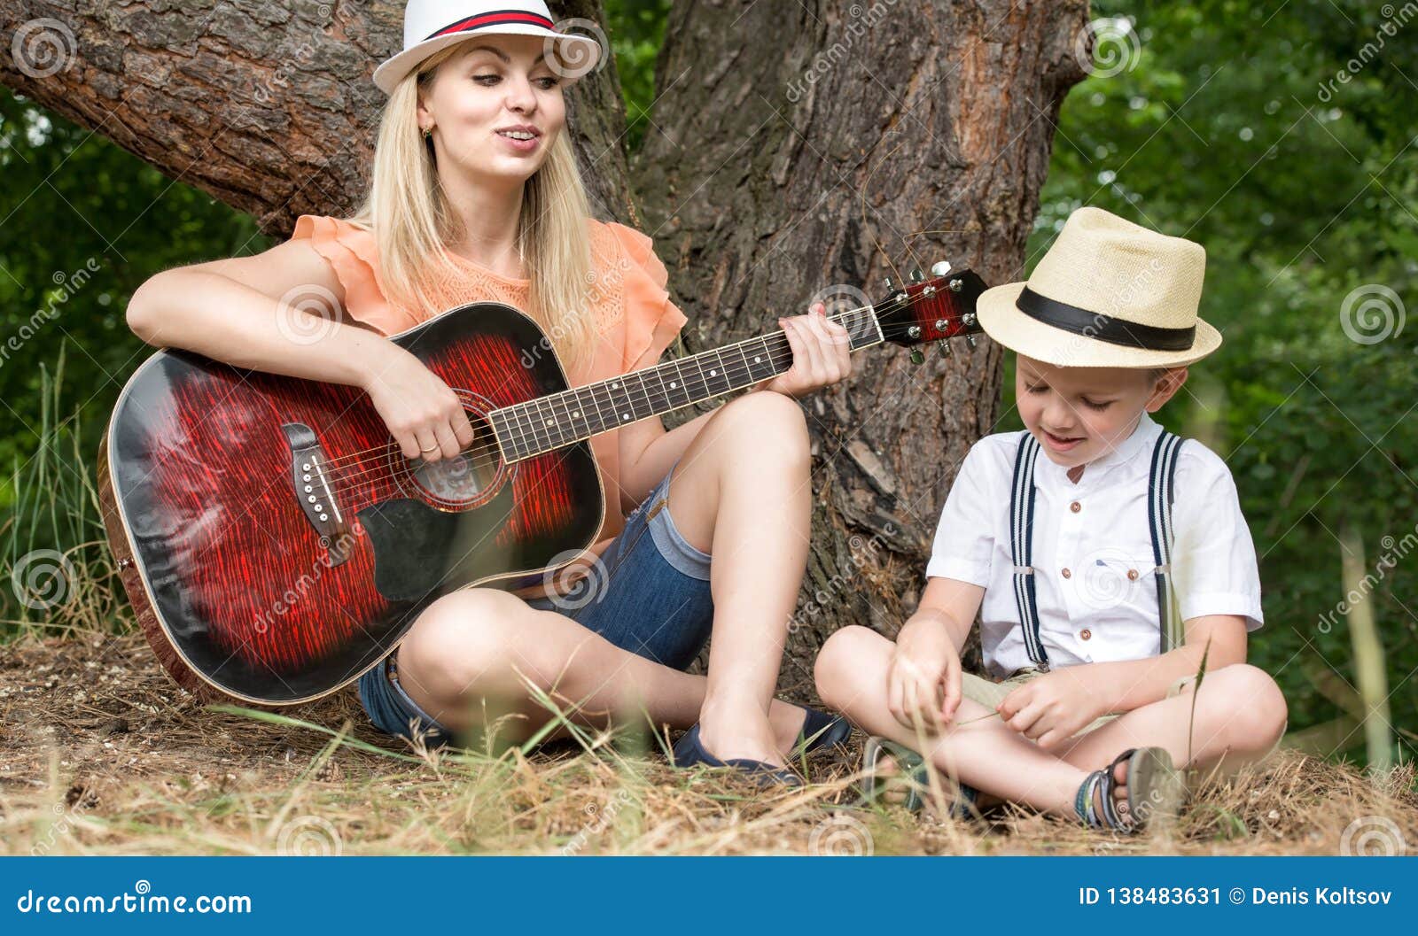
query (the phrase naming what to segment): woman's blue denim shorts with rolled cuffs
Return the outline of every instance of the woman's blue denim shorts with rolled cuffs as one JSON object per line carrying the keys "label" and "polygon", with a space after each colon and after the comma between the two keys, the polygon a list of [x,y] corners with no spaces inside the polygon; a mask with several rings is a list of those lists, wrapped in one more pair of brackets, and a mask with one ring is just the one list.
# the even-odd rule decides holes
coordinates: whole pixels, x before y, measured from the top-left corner
{"label": "woman's blue denim shorts with rolled cuffs", "polygon": [[[527,605],[566,615],[623,650],[685,670],[713,624],[709,593],[709,555],[692,547],[669,517],[669,479],[641,501],[625,528],[600,557],[600,565],[570,593],[535,598]],[[649,532],[647,537],[645,532]],[[588,585],[596,579],[596,585]],[[452,731],[408,697],[398,684],[398,667],[390,653],[360,677],[359,698],[374,726],[389,735],[420,734],[428,746],[452,741]]]}

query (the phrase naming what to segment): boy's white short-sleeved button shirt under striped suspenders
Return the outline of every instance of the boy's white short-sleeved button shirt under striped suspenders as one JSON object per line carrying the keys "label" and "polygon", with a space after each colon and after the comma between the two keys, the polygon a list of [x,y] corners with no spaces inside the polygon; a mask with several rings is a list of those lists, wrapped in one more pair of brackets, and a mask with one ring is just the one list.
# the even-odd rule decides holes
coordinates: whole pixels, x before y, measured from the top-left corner
{"label": "boy's white short-sleeved button shirt under striped suspenders", "polygon": [[[1042,450],[1034,472],[1034,582],[1049,666],[1140,660],[1159,653],[1156,562],[1147,476],[1161,426],[1143,413],[1115,450],[1089,462],[1078,484]],[[1007,677],[1032,666],[1014,600],[1010,483],[1024,432],[980,439],[946,497],[926,575],[986,589],[980,640],[986,668]],[[1177,456],[1173,586],[1183,620],[1236,615],[1261,626],[1255,545],[1231,472],[1195,439]]]}

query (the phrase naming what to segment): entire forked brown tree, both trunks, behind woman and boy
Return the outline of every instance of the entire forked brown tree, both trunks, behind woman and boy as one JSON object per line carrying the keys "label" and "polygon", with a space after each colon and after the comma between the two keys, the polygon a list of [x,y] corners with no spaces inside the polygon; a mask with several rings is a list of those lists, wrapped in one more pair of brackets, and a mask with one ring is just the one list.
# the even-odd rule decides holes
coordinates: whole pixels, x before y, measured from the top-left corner
{"label": "entire forked brown tree, both trunks, behind woman and boy", "polygon": [[[604,21],[600,0],[553,14]],[[364,190],[396,0],[0,0],[0,82],[285,236]],[[1086,0],[700,0],[671,14],[634,170],[611,57],[570,91],[596,212],[658,241],[691,346],[761,333],[830,285],[1024,261]],[[631,184],[644,208],[632,208]],[[899,268],[898,268],[899,265]],[[963,348],[961,348],[963,351]],[[786,687],[842,623],[917,600],[934,518],[995,426],[1001,353],[856,355],[804,401],[815,515]]]}

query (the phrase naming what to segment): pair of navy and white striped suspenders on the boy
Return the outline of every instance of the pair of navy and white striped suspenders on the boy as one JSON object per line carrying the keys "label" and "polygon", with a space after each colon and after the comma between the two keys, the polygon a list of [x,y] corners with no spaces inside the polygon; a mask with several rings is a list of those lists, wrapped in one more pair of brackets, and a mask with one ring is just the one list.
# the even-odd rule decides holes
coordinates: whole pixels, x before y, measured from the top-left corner
{"label": "pair of navy and white striped suspenders on the boy", "polygon": [[[1160,650],[1167,653],[1183,643],[1180,615],[1173,613],[1171,595],[1171,504],[1176,498],[1177,452],[1185,439],[1166,429],[1153,447],[1147,477],[1147,524],[1153,541],[1153,575],[1157,581]],[[1028,432],[1014,459],[1014,484],[1010,489],[1010,555],[1014,559],[1014,603],[1024,627],[1024,649],[1041,673],[1048,673],[1049,657],[1039,636],[1039,606],[1034,590],[1034,464],[1039,443]]]}

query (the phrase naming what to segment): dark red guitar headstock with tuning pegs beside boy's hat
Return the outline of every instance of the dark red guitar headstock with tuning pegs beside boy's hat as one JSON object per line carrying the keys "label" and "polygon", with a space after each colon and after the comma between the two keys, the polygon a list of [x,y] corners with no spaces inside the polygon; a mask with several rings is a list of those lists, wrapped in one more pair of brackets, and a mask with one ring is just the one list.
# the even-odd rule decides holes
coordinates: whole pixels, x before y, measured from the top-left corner
{"label": "dark red guitar headstock with tuning pegs beside boy's hat", "polygon": [[917,346],[927,341],[939,341],[942,351],[950,354],[950,338],[964,336],[973,348],[980,331],[976,300],[986,289],[977,273],[953,270],[946,261],[933,265],[929,278],[917,268],[899,286],[888,279],[888,295],[875,304],[882,337],[912,348],[910,360],[916,364],[925,360]]}

